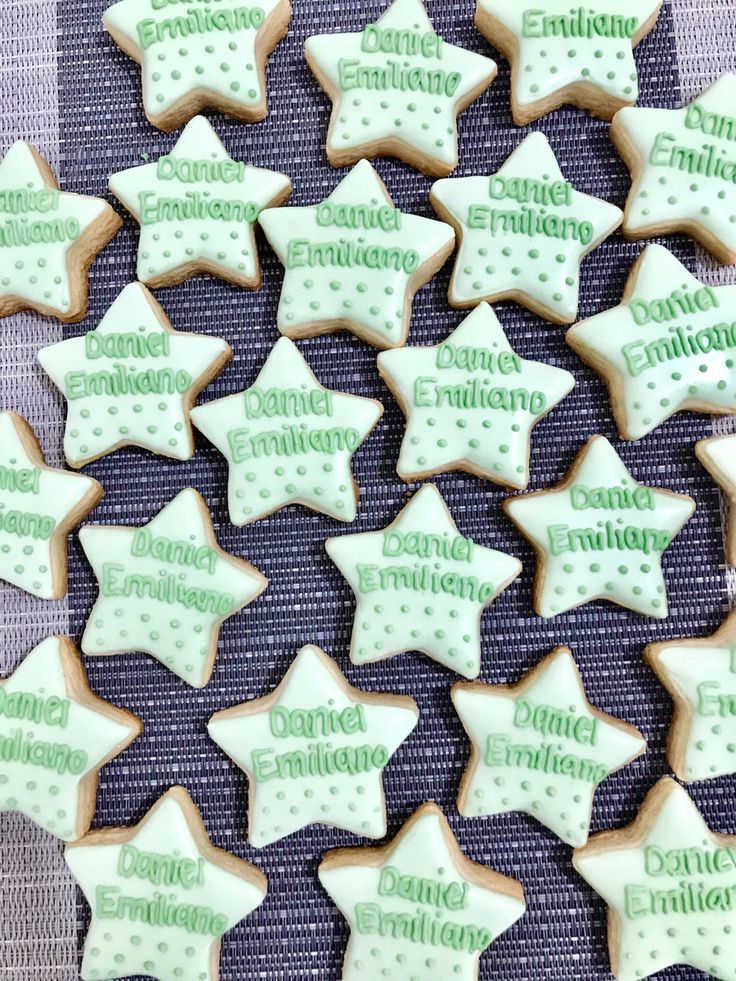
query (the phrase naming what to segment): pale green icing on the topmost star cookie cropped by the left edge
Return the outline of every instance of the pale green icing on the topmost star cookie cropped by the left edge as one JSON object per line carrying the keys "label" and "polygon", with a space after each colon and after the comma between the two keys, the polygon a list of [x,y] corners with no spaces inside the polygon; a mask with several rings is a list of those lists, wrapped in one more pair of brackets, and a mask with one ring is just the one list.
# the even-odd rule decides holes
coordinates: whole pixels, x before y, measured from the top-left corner
{"label": "pale green icing on the topmost star cookie cropped by the left edge", "polygon": [[0,160],[0,296],[70,313],[69,252],[106,209],[50,189],[29,144],[14,143]]}

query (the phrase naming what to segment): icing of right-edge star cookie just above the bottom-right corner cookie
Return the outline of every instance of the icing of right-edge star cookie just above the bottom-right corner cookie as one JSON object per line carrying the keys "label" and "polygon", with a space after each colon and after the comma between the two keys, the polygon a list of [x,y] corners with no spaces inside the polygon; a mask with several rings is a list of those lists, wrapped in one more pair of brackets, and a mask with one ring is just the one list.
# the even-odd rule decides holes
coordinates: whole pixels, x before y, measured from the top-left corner
{"label": "icing of right-edge star cookie just above the bottom-right corner cookie", "polygon": [[674,644],[661,648],[657,660],[692,712],[685,778],[736,773],[736,647]]}

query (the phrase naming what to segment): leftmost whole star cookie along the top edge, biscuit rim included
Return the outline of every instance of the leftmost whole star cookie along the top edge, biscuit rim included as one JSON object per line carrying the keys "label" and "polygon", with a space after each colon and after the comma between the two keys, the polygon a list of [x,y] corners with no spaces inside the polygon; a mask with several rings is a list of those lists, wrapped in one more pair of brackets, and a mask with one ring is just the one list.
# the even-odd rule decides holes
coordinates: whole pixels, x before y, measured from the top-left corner
{"label": "leftmost whole star cookie along the top edge, biscuit rim included", "polygon": [[119,0],[105,30],[141,66],[143,108],[167,132],[201,109],[266,118],[266,61],[286,35],[289,0]]}

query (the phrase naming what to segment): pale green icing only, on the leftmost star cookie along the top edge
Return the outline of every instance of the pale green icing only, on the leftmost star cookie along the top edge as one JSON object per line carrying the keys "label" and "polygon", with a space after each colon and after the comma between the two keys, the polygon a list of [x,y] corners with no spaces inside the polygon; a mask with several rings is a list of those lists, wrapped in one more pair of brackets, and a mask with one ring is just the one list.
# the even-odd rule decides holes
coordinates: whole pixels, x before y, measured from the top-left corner
{"label": "pale green icing only, on the leftmost star cookie along the top edge", "polygon": [[[263,99],[256,45],[281,2],[217,0],[182,6],[165,0],[120,0],[105,11],[103,23],[122,35],[140,58],[148,116],[158,116],[202,89],[247,110]],[[178,23],[180,17],[186,26]]]}

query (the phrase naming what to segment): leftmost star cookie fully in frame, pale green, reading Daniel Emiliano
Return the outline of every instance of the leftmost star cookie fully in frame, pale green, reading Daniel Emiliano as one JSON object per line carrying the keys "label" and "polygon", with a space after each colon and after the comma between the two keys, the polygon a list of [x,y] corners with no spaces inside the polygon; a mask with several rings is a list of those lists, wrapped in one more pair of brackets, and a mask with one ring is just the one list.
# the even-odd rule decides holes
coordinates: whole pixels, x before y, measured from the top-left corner
{"label": "leftmost star cookie fully in frame, pale green, reading Daniel Emiliano", "polygon": [[231,357],[217,337],[174,330],[145,286],[126,286],[98,327],[38,352],[67,400],[67,462],[82,467],[121,446],[190,459],[189,409]]}

